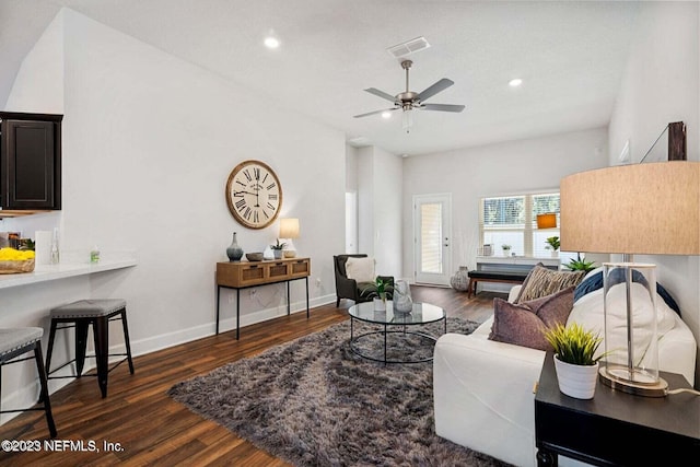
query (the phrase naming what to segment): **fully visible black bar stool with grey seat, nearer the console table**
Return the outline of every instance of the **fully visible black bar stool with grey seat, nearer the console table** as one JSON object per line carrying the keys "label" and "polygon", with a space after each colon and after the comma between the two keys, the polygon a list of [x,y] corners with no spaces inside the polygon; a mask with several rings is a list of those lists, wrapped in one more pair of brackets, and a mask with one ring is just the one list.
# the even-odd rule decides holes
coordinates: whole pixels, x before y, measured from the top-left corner
{"label": "fully visible black bar stool with grey seat, nearer the console table", "polygon": [[[121,319],[124,328],[124,341],[126,353],[109,353],[109,322]],[[69,323],[70,325],[58,326]],[[95,341],[95,354],[86,355],[88,327],[92,325]],[[75,358],[63,363],[57,369],[50,370],[51,353],[54,352],[54,339],[57,329],[75,328]],[[114,366],[109,367],[109,357],[125,357]],[[129,362],[129,371],[133,374],[133,361],[131,360],[131,345],[129,343],[129,327],[127,326],[127,302],[120,299],[106,300],[80,300],[51,310],[51,330],[48,336],[48,352],[46,354],[46,374],[49,380],[61,377],[81,377],[85,358],[95,358],[97,361],[97,376],[102,397],[107,397],[107,375],[125,360]],[[75,375],[51,376],[58,370],[75,362]]]}

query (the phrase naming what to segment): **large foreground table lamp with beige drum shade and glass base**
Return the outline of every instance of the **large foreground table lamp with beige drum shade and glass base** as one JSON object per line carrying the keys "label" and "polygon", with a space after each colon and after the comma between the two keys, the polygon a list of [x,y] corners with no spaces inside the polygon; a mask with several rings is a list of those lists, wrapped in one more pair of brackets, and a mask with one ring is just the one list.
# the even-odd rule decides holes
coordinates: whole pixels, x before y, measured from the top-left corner
{"label": "large foreground table lamp with beige drum shade and glass base", "polygon": [[[633,255],[700,255],[700,162],[583,172],[561,180],[560,196],[562,249],[623,255],[622,262],[603,265],[606,354],[600,381],[631,394],[665,396],[656,348],[655,266],[633,262]],[[635,322],[640,310],[653,312],[645,325]],[[645,340],[648,346],[640,345]]]}

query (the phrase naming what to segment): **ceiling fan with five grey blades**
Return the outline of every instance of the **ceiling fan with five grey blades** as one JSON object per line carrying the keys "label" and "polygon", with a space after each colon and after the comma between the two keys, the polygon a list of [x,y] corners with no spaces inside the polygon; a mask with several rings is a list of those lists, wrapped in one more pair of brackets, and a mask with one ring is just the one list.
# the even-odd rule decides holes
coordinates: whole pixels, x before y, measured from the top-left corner
{"label": "ceiling fan with five grey blades", "polygon": [[408,86],[408,70],[411,68],[413,62],[411,60],[401,61],[401,68],[406,70],[406,92],[398,93],[396,96],[393,96],[384,91],[380,91],[375,87],[369,87],[364,91],[370,94],[374,94],[378,97],[385,98],[394,103],[394,107],[383,108],[381,110],[368,112],[366,114],[355,115],[354,118],[369,117],[370,115],[382,114],[384,112],[393,112],[401,109],[404,110],[404,128],[408,132],[411,126],[410,110],[418,108],[421,110],[439,110],[439,112],[462,112],[464,110],[464,105],[454,105],[454,104],[425,104],[424,101],[434,96],[441,91],[446,90],[451,85],[454,84],[454,81],[443,78],[438,81],[433,85],[429,86],[421,93],[415,93],[409,90]]}

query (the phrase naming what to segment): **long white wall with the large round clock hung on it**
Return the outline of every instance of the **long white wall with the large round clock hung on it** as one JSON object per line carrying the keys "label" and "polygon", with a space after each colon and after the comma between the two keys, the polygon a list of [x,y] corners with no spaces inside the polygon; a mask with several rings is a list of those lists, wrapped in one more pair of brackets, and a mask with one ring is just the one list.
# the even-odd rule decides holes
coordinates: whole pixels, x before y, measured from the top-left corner
{"label": "long white wall with the large round clock hung on it", "polygon": [[[58,225],[66,249],[135,249],[138,266],[78,281],[74,291],[57,281],[46,285],[52,295],[42,302],[33,300],[30,287],[3,292],[0,326],[48,329],[43,317],[50,306],[119,296],[128,302],[137,354],[213,334],[215,262],[228,260],[232,232],[254,252],[272,243],[279,230],[278,222],[244,229],[229,212],[226,178],[246,159],[276,171],[283,188],[281,217],[300,218],[294,244],[300,256],[312,258],[312,306],[332,302],[332,255],[345,247],[341,132],[71,10],[62,10],[49,28],[25,59],[7,110],[65,114],[63,209],[3,221],[3,230],[33,234]],[[45,72],[57,68],[45,50],[61,49],[59,106],[40,91],[57,78]],[[255,297],[242,293],[242,325],[284,314],[284,290],[277,284],[260,288]],[[292,310],[305,310],[304,281],[292,282],[291,295]],[[235,292],[223,290],[224,330],[235,326],[230,299]],[[9,314],[10,307],[23,314]]]}

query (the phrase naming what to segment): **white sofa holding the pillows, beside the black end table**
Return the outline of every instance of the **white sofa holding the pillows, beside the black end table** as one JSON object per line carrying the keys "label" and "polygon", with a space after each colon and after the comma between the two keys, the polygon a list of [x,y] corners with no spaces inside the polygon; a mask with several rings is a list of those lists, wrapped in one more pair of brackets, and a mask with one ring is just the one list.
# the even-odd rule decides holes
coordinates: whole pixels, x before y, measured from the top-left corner
{"label": "white sofa holding the pillows, beside the black end table", "polygon": [[[514,287],[509,301],[518,291],[520,285]],[[682,374],[693,384],[696,340],[680,317],[657,299],[660,314],[666,319],[660,325],[660,369]],[[602,329],[603,290],[578,300],[568,319],[571,322],[588,328],[597,322]],[[489,340],[492,323],[493,317],[468,336],[446,334],[438,339],[433,360],[435,432],[501,460],[535,466],[534,387],[545,352]],[[581,465],[564,457],[560,464]]]}

